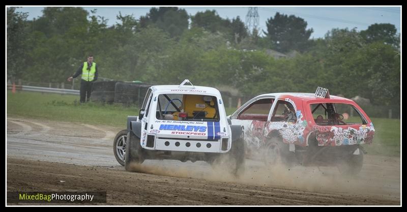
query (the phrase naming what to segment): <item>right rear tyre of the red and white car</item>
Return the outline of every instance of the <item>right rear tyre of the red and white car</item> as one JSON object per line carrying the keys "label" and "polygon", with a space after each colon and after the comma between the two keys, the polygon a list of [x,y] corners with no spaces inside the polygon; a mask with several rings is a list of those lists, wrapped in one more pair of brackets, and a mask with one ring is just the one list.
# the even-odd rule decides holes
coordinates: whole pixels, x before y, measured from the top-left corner
{"label": "right rear tyre of the red and white car", "polygon": [[341,160],[337,168],[339,172],[343,175],[357,175],[359,172],[362,170],[363,166],[363,151],[358,148],[356,150],[359,150],[359,155],[349,155],[347,159]]}

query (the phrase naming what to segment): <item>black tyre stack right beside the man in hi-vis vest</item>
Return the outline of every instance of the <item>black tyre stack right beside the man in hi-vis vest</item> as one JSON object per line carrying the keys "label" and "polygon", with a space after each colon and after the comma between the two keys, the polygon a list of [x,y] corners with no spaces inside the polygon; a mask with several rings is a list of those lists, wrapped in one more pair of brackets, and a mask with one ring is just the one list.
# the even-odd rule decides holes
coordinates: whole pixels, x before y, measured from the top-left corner
{"label": "black tyre stack right beside the man in hi-vis vest", "polygon": [[114,89],[118,81],[94,82],[92,86],[91,101],[93,102],[114,102]]}

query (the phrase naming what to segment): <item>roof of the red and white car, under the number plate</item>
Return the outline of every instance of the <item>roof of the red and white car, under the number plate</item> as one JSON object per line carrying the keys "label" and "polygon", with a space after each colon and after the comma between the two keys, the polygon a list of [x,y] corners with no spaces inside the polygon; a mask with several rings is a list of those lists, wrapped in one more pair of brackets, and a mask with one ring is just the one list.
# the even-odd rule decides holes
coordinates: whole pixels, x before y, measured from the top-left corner
{"label": "roof of the red and white car, under the number plate", "polygon": [[276,99],[292,97],[292,98],[300,99],[305,102],[310,102],[310,101],[314,101],[314,100],[326,101],[326,102],[330,102],[332,100],[343,101],[343,102],[354,102],[353,100],[346,99],[344,97],[334,96],[334,95],[330,95],[330,98],[321,98],[321,97],[315,96],[314,93],[270,93],[270,94],[262,94],[257,97],[262,97],[262,96],[274,96]]}

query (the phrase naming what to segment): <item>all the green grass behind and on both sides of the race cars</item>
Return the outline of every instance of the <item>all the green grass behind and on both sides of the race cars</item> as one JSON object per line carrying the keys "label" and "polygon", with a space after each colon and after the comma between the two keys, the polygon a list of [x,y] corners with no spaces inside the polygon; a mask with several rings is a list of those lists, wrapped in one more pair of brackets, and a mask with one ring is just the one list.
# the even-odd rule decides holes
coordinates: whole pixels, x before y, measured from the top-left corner
{"label": "all the green grass behind and on both sides of the race cars", "polygon": [[[230,115],[236,108],[226,108]],[[136,107],[121,104],[79,104],[79,96],[7,92],[7,116],[44,118],[126,128],[128,115],[137,115]],[[364,144],[369,155],[400,156],[400,119],[371,118],[375,135],[372,144]]]}

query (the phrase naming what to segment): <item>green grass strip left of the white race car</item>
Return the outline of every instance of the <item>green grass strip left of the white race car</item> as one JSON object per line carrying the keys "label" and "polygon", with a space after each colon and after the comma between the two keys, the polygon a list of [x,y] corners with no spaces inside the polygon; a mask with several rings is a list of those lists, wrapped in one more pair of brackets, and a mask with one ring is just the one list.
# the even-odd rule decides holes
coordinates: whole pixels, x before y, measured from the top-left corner
{"label": "green grass strip left of the white race car", "polygon": [[124,107],[121,104],[79,104],[79,96],[74,95],[7,92],[7,116],[126,128],[127,116],[137,114],[137,108]]}

